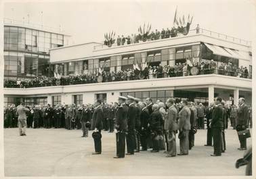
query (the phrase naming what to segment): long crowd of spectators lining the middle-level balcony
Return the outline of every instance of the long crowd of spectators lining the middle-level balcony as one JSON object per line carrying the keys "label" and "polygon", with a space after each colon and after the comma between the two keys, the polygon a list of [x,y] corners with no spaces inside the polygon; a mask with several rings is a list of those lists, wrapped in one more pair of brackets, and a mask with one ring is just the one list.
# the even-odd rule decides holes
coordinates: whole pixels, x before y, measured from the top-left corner
{"label": "long crowd of spectators lining the middle-level balcony", "polygon": [[[201,62],[194,64],[198,68],[198,75],[200,74],[221,74],[226,76],[236,76],[240,78],[249,78],[249,71],[247,67],[234,66],[232,63],[221,63],[217,68],[215,61]],[[175,66],[148,66],[144,70],[135,70],[128,68],[118,72],[103,71],[102,74],[81,74],[62,76],[60,79],[56,77],[36,77],[32,80],[5,80],[4,86],[7,88],[30,88],[39,86],[59,86],[70,84],[89,84],[96,82],[115,82],[125,80],[142,80],[153,78],[173,78],[176,76],[191,76],[195,75],[190,72],[192,67],[187,63],[176,63]],[[101,76],[102,80],[99,81],[98,77]]]}

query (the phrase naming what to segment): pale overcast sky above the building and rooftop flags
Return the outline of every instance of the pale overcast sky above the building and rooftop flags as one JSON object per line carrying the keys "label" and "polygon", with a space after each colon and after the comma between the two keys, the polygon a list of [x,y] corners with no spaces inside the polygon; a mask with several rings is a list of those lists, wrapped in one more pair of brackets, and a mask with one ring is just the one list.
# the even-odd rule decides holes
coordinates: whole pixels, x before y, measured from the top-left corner
{"label": "pale overcast sky above the building and rooftop flags", "polygon": [[[71,44],[102,42],[104,33],[131,35],[148,22],[152,30],[171,28],[177,16],[193,16],[190,28],[205,28],[252,41],[255,4],[251,0],[178,1],[5,1],[4,18],[42,24],[70,34]],[[43,13],[42,13],[43,12]]]}

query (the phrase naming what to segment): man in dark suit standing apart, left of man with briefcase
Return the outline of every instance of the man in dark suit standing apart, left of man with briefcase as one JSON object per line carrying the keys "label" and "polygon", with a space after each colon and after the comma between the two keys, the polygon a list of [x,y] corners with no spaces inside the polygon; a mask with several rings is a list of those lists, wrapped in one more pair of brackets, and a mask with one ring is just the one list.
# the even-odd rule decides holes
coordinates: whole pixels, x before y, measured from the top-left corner
{"label": "man in dark suit standing apart, left of man with briefcase", "polygon": [[223,108],[221,101],[221,97],[216,97],[215,107],[213,107],[213,116],[210,126],[213,133],[214,151],[211,156],[221,156],[221,130],[223,129]]}

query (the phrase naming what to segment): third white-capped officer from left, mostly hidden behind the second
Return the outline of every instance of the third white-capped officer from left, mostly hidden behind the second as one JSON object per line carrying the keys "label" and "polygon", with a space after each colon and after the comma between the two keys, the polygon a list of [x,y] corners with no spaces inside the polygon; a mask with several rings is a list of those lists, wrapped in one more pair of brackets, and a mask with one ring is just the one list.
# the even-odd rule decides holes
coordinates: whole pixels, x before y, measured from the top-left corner
{"label": "third white-capped officer from left, mostly hidden behind the second", "polygon": [[138,104],[140,99],[134,98],[134,105],[136,109],[136,117],[135,117],[135,152],[140,152],[140,105]]}

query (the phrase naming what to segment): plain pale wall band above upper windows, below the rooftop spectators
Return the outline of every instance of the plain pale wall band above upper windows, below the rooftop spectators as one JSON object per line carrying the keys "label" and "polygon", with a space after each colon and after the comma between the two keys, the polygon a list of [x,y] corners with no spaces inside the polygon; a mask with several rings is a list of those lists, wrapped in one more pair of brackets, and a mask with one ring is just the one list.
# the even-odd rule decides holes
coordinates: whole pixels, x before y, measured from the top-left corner
{"label": "plain pale wall band above upper windows, below the rooftop spectators", "polygon": [[[207,36],[205,34],[194,34],[189,36],[178,36],[169,39],[160,39],[157,41],[149,41],[145,43],[135,43],[131,45],[116,46],[116,47],[104,47],[95,49],[98,43],[87,43],[81,45],[73,45],[69,47],[60,47],[50,50],[50,62],[63,62],[79,59],[94,59],[103,56],[122,55],[125,53],[135,53],[135,51],[150,51],[153,49],[165,49],[169,47],[179,47],[189,45],[193,43],[211,43],[222,47],[228,47],[230,49],[236,49],[244,51],[245,56],[251,60],[248,56],[248,52],[251,51],[251,47],[246,45],[240,45],[238,43],[232,43],[222,39],[214,38],[213,36]],[[244,56],[244,55],[243,55]]]}

